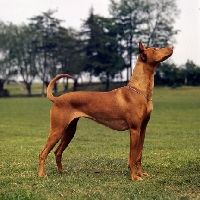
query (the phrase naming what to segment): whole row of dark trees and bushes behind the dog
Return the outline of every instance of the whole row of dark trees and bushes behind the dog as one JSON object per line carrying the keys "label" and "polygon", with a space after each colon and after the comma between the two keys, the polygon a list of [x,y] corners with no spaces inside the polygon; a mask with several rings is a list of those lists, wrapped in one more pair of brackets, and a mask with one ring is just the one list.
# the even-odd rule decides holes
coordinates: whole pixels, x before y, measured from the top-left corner
{"label": "whole row of dark trees and bushes behind the dog", "polygon": [[[114,79],[129,80],[139,41],[155,47],[175,43],[178,30],[173,25],[179,10],[174,0],[110,0],[109,13],[111,17],[102,17],[91,8],[79,31],[62,26],[52,10],[30,18],[28,24],[1,21],[0,91],[18,74],[28,95],[39,78],[44,95],[49,81],[60,73],[74,76],[74,90],[83,75],[89,84],[92,77],[99,77],[108,90]],[[165,62],[155,74],[155,83],[199,85],[200,68],[189,60],[183,66]],[[56,92],[56,85],[54,89]]]}

